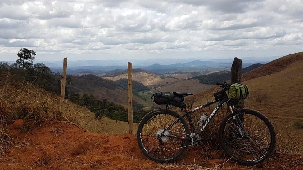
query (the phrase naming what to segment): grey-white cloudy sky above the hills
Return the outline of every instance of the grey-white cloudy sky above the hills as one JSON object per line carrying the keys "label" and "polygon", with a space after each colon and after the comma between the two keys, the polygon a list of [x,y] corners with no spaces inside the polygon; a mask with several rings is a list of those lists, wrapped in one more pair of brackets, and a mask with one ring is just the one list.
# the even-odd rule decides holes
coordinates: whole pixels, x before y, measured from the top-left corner
{"label": "grey-white cloudy sky above the hills", "polygon": [[275,56],[303,51],[303,0],[0,0],[0,60]]}

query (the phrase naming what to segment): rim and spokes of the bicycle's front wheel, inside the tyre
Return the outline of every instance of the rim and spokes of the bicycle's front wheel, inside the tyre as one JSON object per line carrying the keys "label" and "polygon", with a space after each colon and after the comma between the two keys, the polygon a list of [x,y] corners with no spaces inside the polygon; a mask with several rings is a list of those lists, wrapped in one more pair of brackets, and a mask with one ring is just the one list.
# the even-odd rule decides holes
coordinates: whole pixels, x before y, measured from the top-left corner
{"label": "rim and spokes of the bicycle's front wheel, inside the tyre", "polygon": [[268,154],[273,139],[268,124],[253,114],[237,113],[235,116],[243,116],[243,128],[238,129],[233,117],[226,121],[223,133],[225,148],[235,159],[243,162],[262,160]]}

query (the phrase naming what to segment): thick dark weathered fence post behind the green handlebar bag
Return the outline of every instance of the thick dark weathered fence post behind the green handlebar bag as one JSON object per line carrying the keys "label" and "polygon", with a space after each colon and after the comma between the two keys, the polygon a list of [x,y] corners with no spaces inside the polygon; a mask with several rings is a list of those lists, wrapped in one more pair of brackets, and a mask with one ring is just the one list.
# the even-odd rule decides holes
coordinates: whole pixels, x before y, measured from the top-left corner
{"label": "thick dark weathered fence post behind the green handlebar bag", "polygon": [[[241,69],[242,69],[242,60],[235,57],[233,59],[233,65],[230,72],[232,84],[241,83]],[[232,103],[238,109],[244,108],[243,100],[232,100]]]}

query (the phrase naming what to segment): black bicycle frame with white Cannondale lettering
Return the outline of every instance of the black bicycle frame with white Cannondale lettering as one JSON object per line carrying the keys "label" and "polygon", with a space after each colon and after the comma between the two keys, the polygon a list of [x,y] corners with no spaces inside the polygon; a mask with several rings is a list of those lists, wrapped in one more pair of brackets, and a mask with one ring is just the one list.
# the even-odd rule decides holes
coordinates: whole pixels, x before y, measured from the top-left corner
{"label": "black bicycle frame with white Cannondale lettering", "polygon": [[[190,110],[190,111],[186,111],[184,115],[182,115],[179,119],[177,119],[176,121],[174,121],[174,123],[172,123],[172,124],[169,125],[167,128],[165,128],[165,129],[163,130],[163,132],[164,132],[165,130],[169,130],[169,129],[170,129],[172,126],[174,126],[174,124],[176,124],[182,117],[187,116],[189,125],[190,125],[190,127],[191,127],[191,133],[192,133],[192,132],[194,131],[194,127],[193,127],[193,124],[192,124],[192,119],[191,119],[190,114],[193,113],[193,112],[196,112],[196,111],[198,111],[198,110],[201,110],[201,109],[203,109],[203,108],[205,108],[205,107],[207,107],[207,106],[210,106],[210,105],[212,105],[212,104],[214,104],[214,103],[216,103],[216,102],[219,102],[218,105],[215,107],[214,111],[211,112],[211,114],[208,116],[208,119],[202,124],[202,127],[201,127],[199,133],[197,134],[197,135],[200,136],[200,135],[202,134],[202,132],[204,131],[204,129],[208,126],[208,124],[210,123],[210,121],[214,118],[214,116],[215,116],[216,113],[218,112],[219,108],[220,108],[225,102],[227,103],[227,106],[228,106],[228,107],[231,106],[231,105],[230,105],[230,102],[229,102],[229,99],[228,99],[228,97],[227,97],[227,95],[226,95],[224,98],[221,98],[221,99],[218,99],[218,100],[213,100],[213,101],[211,101],[211,102],[209,102],[209,103],[206,103],[206,104],[204,104],[204,105],[202,105],[202,106],[199,106],[199,107],[197,107],[197,108],[194,108],[194,109],[192,109],[192,110]],[[181,140],[189,140],[188,137],[177,137],[177,136],[171,136],[171,135],[165,135],[165,136],[167,136],[167,137],[173,137],[173,138],[178,138],[178,139],[181,139]]]}

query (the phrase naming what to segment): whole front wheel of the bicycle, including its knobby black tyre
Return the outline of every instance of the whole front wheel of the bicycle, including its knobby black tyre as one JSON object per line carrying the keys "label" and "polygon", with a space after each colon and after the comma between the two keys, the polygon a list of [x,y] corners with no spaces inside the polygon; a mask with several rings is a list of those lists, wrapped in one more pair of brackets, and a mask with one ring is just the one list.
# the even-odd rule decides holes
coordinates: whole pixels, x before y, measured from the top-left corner
{"label": "whole front wheel of the bicycle, including its knobby black tyre", "polygon": [[[238,126],[238,122],[242,125]],[[242,165],[256,165],[275,150],[276,133],[269,119],[251,109],[238,109],[227,116],[219,129],[223,150]]]}

